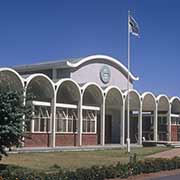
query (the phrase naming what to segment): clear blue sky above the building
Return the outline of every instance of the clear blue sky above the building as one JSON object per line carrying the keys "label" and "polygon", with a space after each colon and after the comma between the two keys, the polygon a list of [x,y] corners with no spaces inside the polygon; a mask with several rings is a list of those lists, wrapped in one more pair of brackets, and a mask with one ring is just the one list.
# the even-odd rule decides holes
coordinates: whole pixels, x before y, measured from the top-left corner
{"label": "clear blue sky above the building", "polygon": [[127,65],[127,11],[135,88],[180,96],[179,0],[6,0],[0,3],[0,66],[106,54]]}

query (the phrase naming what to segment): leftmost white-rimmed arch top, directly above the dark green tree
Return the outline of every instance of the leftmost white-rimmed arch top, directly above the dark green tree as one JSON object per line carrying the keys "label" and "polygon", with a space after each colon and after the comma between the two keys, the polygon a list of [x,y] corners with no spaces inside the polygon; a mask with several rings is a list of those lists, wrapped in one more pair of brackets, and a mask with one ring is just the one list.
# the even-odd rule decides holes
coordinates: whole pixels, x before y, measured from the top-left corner
{"label": "leftmost white-rimmed arch top, directly above the dark green tree", "polygon": [[24,79],[14,69],[0,68],[0,87],[5,85],[19,91],[24,88]]}

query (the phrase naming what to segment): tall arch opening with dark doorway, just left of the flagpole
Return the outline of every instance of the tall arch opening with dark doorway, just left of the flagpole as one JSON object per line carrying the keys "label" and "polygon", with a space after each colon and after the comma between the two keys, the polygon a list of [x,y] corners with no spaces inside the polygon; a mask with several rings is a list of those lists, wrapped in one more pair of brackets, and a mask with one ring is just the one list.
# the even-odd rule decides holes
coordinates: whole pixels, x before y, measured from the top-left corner
{"label": "tall arch opening with dark doorway, just left of the flagpole", "polygon": [[116,86],[109,86],[105,93],[105,143],[120,144],[123,95]]}

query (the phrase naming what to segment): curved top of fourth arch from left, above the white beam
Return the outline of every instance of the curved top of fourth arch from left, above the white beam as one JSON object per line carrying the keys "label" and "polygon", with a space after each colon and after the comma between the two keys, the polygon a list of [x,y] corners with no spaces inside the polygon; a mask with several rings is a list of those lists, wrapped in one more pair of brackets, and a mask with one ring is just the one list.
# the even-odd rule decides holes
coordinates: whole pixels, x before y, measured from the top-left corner
{"label": "curved top of fourth arch from left, above the white beam", "polygon": [[93,82],[86,83],[82,86],[83,105],[98,105],[103,102],[103,91],[101,87]]}

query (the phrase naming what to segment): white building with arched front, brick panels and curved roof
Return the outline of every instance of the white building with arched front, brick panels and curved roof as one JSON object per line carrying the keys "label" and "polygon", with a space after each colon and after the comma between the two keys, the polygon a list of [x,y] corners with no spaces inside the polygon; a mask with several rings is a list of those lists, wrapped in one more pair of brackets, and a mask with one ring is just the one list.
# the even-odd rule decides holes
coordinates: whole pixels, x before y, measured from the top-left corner
{"label": "white building with arched front, brick panels and curved roof", "polygon": [[26,147],[124,145],[128,73],[131,143],[180,141],[180,99],[139,94],[138,78],[109,56],[0,68],[0,87],[35,96]]}

